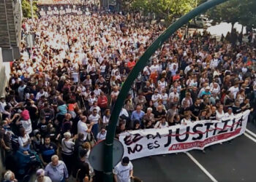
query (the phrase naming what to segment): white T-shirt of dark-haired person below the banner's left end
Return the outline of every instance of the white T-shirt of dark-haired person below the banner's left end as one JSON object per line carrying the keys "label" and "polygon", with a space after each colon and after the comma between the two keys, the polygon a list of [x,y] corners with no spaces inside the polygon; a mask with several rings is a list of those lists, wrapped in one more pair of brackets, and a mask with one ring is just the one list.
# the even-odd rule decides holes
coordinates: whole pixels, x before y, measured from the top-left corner
{"label": "white T-shirt of dark-haired person below the banner's left end", "polygon": [[113,173],[117,175],[118,182],[130,182],[129,172],[133,169],[132,162],[129,162],[127,166],[121,165],[121,162],[116,165],[113,170]]}

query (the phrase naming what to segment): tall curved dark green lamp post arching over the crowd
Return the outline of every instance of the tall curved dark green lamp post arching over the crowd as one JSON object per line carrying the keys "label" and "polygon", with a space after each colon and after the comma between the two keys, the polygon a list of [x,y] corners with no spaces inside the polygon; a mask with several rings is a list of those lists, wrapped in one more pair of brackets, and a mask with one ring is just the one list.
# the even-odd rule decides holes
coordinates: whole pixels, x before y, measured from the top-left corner
{"label": "tall curved dark green lamp post arching over the crowd", "polygon": [[151,44],[150,47],[146,50],[146,52],[140,57],[140,60],[136,63],[135,67],[129,73],[126,81],[124,82],[123,86],[121,87],[121,91],[118,94],[118,98],[116,100],[115,106],[113,111],[111,112],[110,116],[110,124],[108,125],[108,132],[107,137],[105,140],[105,151],[104,151],[104,181],[105,182],[113,182],[113,140],[116,133],[116,124],[118,122],[118,116],[120,114],[121,108],[124,105],[124,100],[127,98],[127,94],[131,88],[131,85],[135,81],[135,79],[140,74],[140,71],[148,63],[149,58],[151,55],[156,52],[156,50],[162,46],[162,44],[170,38],[170,36],[175,33],[178,28],[181,28],[182,25],[186,24],[191,20],[193,17],[200,15],[200,13],[205,12],[207,9],[211,7],[215,7],[218,4],[221,4],[228,0],[210,0],[206,1],[200,6],[192,9],[187,15],[179,18],[175,23],[170,25],[154,42]]}

